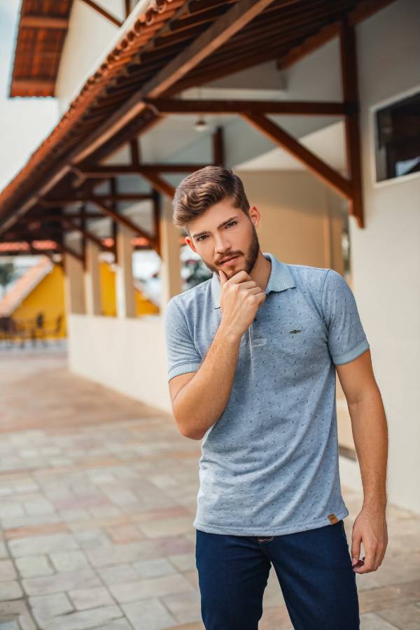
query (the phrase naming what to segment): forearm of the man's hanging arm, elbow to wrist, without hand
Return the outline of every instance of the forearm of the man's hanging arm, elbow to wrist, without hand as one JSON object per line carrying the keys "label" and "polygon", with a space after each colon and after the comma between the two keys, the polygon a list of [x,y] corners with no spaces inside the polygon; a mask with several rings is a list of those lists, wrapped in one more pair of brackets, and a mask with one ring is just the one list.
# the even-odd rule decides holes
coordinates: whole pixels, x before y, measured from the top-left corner
{"label": "forearm of the man's hanging arm, elbow to wrist, without hand", "polygon": [[385,507],[388,427],[377,386],[349,403],[353,440],[363,484],[363,506]]}

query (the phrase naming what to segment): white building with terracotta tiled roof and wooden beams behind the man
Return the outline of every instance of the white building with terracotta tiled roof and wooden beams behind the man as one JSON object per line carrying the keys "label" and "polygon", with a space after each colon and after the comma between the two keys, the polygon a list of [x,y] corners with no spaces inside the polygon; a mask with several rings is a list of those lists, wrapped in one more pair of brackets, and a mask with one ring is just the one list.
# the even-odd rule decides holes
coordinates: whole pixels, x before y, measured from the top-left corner
{"label": "white building with terracotta tiled roof and wooden beams behind the man", "polygon": [[[420,510],[419,3],[31,10],[23,0],[10,93],[55,94],[62,119],[1,193],[0,239],[62,260],[71,370],[171,410],[162,314],[182,288],[174,186],[202,165],[233,167],[262,211],[262,251],[351,284],[388,416],[389,498]],[[135,316],[134,248],[160,255],[159,314]],[[116,318],[100,315],[102,250],[116,260]],[[342,482],[358,485],[338,402]]]}

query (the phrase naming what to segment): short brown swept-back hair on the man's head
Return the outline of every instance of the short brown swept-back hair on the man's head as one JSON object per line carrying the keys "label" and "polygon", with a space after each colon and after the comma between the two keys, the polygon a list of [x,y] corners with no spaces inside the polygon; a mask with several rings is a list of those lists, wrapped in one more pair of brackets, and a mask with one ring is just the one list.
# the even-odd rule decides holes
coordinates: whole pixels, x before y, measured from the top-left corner
{"label": "short brown swept-back hair on the man's head", "polygon": [[246,215],[249,202],[244,184],[232,169],[220,166],[207,166],[184,177],[175,190],[172,207],[172,222],[188,232],[188,224],[214,204],[229,199],[236,208]]}

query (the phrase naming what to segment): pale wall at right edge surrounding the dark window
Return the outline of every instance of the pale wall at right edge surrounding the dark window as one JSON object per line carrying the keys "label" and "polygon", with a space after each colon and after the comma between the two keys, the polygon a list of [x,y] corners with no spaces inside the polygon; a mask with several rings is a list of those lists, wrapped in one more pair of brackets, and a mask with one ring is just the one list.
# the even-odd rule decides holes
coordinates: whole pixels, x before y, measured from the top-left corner
{"label": "pale wall at right edge surrounding the dark window", "polygon": [[357,43],[365,229],[351,221],[353,286],[388,416],[388,496],[420,511],[420,174],[374,185],[370,129],[372,105],[420,89],[419,2],[391,3]]}

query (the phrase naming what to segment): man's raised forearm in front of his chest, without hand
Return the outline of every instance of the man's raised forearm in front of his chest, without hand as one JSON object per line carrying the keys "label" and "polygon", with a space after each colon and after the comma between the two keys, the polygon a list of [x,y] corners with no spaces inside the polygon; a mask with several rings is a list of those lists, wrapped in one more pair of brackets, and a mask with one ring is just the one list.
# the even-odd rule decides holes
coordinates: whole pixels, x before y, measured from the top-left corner
{"label": "man's raised forearm in front of his chest, without hand", "polygon": [[173,410],[183,435],[200,440],[223,414],[232,391],[241,337],[221,325],[199,370],[174,400]]}

